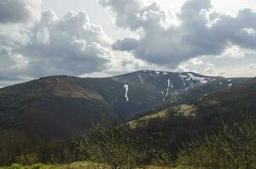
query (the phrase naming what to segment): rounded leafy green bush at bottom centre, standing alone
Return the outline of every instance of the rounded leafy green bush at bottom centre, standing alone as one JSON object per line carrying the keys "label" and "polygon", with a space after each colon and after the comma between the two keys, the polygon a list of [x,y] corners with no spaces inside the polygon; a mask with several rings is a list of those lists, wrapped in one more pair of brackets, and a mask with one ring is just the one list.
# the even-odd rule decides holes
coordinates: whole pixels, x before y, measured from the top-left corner
{"label": "rounded leafy green bush at bottom centre, standing alone", "polygon": [[95,123],[86,136],[76,142],[81,160],[108,164],[113,169],[135,168],[143,156],[131,137],[131,129],[123,124],[104,119]]}

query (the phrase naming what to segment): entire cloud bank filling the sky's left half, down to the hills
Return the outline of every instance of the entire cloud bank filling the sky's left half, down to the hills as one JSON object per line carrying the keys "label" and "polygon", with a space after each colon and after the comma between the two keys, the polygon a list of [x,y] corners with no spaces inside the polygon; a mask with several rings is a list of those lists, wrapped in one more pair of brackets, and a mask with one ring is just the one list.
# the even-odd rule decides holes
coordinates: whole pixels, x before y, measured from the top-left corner
{"label": "entire cloud bank filling the sky's left half, down to the hills", "polygon": [[[0,20],[0,85],[56,74],[117,74],[147,65],[130,53],[113,51],[113,41],[85,11],[70,11],[58,18],[47,9],[35,19],[40,3],[0,3],[4,8],[0,13],[5,13]],[[15,5],[23,14],[8,16]]]}

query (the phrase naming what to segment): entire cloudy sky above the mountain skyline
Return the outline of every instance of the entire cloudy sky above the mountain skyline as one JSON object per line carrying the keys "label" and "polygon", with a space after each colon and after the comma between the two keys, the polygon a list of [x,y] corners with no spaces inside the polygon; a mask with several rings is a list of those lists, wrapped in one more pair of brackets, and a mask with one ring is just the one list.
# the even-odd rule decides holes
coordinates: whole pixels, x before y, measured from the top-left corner
{"label": "entire cloudy sky above the mountain skyline", "polygon": [[142,69],[256,76],[254,0],[1,0],[0,87]]}

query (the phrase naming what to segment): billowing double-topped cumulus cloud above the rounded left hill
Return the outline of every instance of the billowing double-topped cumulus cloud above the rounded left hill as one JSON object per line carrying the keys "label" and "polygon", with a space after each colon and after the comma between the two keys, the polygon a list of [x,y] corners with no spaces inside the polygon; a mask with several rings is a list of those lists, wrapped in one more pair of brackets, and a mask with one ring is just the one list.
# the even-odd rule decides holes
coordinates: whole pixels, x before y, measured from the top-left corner
{"label": "billowing double-topped cumulus cloud above the rounded left hill", "polygon": [[80,75],[105,68],[110,42],[101,27],[84,11],[55,16],[52,10],[43,12],[42,22],[31,29],[31,43],[16,49],[29,60],[28,72]]}

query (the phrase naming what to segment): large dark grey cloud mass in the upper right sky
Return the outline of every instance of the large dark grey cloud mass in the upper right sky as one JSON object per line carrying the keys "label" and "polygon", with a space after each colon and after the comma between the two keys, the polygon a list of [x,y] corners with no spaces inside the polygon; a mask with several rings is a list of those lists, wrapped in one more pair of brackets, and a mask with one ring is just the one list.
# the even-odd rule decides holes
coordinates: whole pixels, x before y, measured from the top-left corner
{"label": "large dark grey cloud mass in the upper right sky", "polygon": [[[216,56],[227,46],[255,50],[256,12],[245,8],[237,16],[220,14],[210,0],[188,0],[176,14],[180,24],[170,24],[168,14],[156,3],[139,0],[99,0],[116,15],[116,25],[140,30],[137,39],[116,41],[115,50],[130,51],[148,63],[171,68],[193,57]],[[242,57],[241,53],[237,57]]]}

